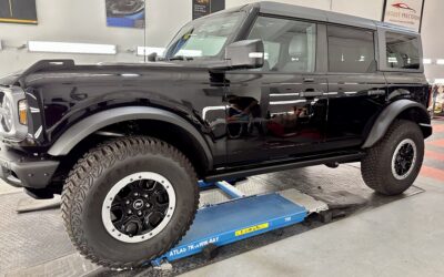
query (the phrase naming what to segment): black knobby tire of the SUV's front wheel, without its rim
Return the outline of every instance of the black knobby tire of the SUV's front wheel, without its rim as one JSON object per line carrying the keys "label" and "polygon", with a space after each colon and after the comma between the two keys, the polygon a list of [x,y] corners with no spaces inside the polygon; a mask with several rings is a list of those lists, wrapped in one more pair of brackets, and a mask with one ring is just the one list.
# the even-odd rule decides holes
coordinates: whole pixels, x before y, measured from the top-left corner
{"label": "black knobby tire of the SUV's front wheel, without its rim", "polygon": [[[162,174],[175,191],[175,211],[168,225],[142,243],[124,243],[105,229],[102,203],[122,176],[138,171]],[[78,161],[62,192],[62,217],[75,248],[91,261],[109,268],[134,268],[174,246],[190,228],[199,205],[198,179],[190,161],[157,138],[111,140]]]}

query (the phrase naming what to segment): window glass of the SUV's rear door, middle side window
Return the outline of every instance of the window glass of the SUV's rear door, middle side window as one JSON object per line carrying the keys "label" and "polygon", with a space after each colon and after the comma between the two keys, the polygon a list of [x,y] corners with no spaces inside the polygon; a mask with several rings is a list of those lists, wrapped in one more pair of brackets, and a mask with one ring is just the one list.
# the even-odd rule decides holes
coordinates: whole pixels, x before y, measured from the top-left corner
{"label": "window glass of the SUV's rear door, middle side window", "polygon": [[327,35],[330,72],[376,71],[373,31],[329,25]]}

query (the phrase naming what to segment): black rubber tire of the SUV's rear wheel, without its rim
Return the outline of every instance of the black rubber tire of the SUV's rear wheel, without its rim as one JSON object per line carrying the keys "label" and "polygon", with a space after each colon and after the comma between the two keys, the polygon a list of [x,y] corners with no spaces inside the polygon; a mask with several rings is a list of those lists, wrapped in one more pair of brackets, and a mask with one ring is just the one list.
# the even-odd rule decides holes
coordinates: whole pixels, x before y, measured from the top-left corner
{"label": "black rubber tire of the SUV's rear wheel, without its rim", "polygon": [[[397,145],[405,138],[416,144],[416,161],[412,172],[397,179],[392,173],[392,157]],[[405,192],[420,174],[424,160],[424,136],[417,123],[395,120],[384,137],[367,150],[361,161],[361,173],[365,184],[384,195],[398,195]]]}

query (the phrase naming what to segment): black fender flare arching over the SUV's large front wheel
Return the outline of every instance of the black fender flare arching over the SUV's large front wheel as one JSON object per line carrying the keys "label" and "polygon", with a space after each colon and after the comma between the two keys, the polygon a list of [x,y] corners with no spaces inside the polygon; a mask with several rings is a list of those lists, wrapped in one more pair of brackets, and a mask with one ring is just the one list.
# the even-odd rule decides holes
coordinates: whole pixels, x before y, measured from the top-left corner
{"label": "black fender flare arching over the SUV's large front wheel", "polygon": [[131,120],[155,120],[174,124],[190,134],[203,150],[209,168],[213,166],[213,156],[202,134],[181,116],[151,106],[124,106],[98,112],[69,127],[50,147],[48,154],[52,156],[68,155],[70,151],[90,134],[114,123]]}

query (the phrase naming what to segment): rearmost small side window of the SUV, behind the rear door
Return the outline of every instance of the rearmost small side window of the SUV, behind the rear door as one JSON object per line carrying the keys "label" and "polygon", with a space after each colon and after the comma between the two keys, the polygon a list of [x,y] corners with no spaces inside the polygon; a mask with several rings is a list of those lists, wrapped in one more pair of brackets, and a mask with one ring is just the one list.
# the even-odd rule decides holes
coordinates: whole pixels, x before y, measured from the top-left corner
{"label": "rearmost small side window of the SUV, behind the rear door", "polygon": [[420,40],[401,33],[385,33],[387,68],[420,69]]}

